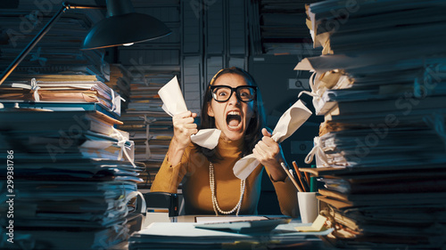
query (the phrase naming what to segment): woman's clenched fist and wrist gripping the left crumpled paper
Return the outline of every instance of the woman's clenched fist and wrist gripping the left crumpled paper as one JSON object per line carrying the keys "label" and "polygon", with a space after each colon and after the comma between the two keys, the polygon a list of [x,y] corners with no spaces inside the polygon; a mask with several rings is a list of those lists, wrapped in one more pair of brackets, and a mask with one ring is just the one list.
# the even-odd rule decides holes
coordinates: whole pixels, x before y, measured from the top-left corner
{"label": "woman's clenched fist and wrist gripping the left crumpled paper", "polygon": [[185,149],[191,143],[191,135],[198,133],[197,125],[194,124],[196,116],[196,113],[186,111],[172,118],[173,138],[168,150],[171,165],[177,165],[180,162]]}

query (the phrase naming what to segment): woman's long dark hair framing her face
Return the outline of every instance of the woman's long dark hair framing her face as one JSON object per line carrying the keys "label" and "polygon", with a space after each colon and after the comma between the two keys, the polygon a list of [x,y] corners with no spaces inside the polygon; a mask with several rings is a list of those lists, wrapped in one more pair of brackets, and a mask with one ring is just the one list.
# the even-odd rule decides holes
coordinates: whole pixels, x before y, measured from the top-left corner
{"label": "woman's long dark hair framing her face", "polygon": [[[236,74],[244,77],[247,85],[257,86],[254,78],[246,72],[244,69],[239,69],[232,67],[229,69],[221,69],[214,77],[212,77],[211,82],[206,87],[206,93],[204,93],[204,99],[202,102],[201,111],[201,125],[200,129],[205,128],[215,128],[215,118],[208,115],[208,107],[212,101],[211,85],[221,76],[225,74]],[[256,99],[254,100],[254,115],[246,128],[246,133],[244,135],[244,149],[242,150],[242,157],[247,156],[252,153],[255,145],[261,140],[262,134],[261,129],[265,125],[265,111],[263,109],[263,101],[261,99],[260,91],[257,90]],[[211,162],[219,162],[222,158],[217,153],[216,149],[206,149],[201,146],[195,145],[195,149],[201,152],[205,157]]]}

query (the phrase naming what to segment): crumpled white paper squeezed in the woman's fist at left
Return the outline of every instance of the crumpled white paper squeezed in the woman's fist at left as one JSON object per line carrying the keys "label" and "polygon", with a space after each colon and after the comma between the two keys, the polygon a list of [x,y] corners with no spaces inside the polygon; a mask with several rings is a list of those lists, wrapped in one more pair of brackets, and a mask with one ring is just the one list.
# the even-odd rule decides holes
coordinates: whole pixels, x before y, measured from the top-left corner
{"label": "crumpled white paper squeezed in the woman's fist at left", "polygon": [[[183,93],[179,89],[177,77],[173,77],[169,83],[164,85],[158,94],[162,100],[162,109],[173,117],[187,111]],[[219,144],[221,131],[219,129],[202,129],[191,136],[192,142],[207,149],[213,149]]]}

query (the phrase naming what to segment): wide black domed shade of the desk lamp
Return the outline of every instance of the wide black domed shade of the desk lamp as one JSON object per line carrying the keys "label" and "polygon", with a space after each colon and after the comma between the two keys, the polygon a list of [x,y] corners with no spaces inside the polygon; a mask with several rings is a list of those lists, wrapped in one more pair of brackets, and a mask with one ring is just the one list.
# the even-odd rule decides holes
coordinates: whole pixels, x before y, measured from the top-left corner
{"label": "wide black domed shade of the desk lamp", "polygon": [[112,15],[99,21],[90,29],[80,49],[92,50],[140,43],[167,36],[170,33],[171,30],[161,20],[143,13]]}

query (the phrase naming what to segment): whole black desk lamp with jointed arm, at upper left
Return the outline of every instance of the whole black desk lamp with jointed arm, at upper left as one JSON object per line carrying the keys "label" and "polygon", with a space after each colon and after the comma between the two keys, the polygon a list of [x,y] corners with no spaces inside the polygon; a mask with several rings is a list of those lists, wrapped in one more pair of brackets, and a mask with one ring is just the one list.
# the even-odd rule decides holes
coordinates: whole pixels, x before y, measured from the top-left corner
{"label": "whole black desk lamp with jointed arm, at upper left", "polygon": [[[4,69],[0,85],[11,75],[34,46],[45,36],[62,13],[70,9],[103,9],[103,6],[62,3],[62,8],[45,24],[15,60]],[[171,30],[161,20],[149,15],[136,13],[130,0],[107,0],[107,18],[99,21],[88,32],[81,50],[101,49],[111,46],[129,45],[167,36]]]}

